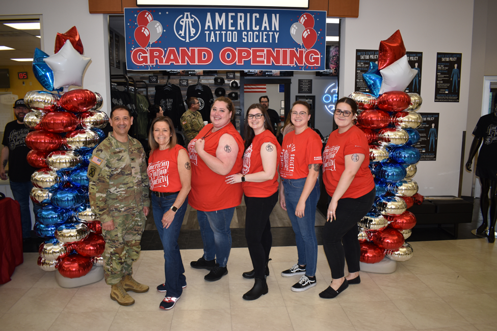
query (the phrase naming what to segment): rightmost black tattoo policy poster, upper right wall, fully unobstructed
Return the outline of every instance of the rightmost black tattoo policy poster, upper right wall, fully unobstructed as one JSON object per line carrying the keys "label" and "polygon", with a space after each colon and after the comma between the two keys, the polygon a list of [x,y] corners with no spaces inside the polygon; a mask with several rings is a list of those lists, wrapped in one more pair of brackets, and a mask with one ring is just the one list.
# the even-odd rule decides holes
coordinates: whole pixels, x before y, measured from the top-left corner
{"label": "rightmost black tattoo policy poster, upper right wall, fully unobstructed", "polygon": [[437,53],[435,102],[459,102],[462,53]]}

